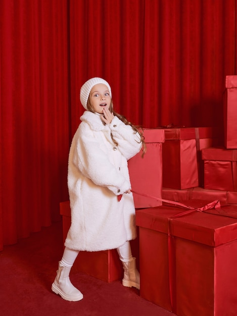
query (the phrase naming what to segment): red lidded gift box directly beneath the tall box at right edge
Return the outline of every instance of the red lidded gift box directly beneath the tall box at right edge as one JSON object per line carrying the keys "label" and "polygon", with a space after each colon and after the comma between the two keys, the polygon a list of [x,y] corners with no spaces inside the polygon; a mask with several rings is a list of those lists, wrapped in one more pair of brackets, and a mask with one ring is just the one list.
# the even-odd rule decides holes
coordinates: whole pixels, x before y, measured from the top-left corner
{"label": "red lidded gift box directly beneath the tall box at right edge", "polygon": [[237,150],[204,148],[204,188],[237,191]]}

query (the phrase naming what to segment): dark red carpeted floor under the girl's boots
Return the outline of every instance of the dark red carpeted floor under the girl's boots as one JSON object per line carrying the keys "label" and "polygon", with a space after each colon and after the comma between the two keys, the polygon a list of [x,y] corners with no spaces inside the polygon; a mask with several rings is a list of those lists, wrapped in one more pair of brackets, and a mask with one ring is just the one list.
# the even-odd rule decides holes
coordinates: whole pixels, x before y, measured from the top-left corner
{"label": "dark red carpeted floor under the girl's boots", "polygon": [[43,228],[0,252],[0,312],[6,316],[173,316],[141,298],[139,291],[120,281],[106,283],[85,274],[71,273],[72,283],[83,293],[68,302],[51,291],[61,258],[62,224]]}

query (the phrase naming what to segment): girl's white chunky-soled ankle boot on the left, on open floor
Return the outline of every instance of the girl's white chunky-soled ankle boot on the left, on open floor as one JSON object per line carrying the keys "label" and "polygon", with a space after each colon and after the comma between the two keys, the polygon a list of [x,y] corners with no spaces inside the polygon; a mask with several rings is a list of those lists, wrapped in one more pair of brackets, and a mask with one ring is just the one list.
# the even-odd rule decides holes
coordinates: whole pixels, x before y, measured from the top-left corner
{"label": "girl's white chunky-soled ankle boot on the left, on open floor", "polygon": [[67,301],[75,302],[81,300],[83,294],[72,285],[69,279],[70,270],[71,268],[61,267],[59,262],[59,269],[52,284],[52,291]]}

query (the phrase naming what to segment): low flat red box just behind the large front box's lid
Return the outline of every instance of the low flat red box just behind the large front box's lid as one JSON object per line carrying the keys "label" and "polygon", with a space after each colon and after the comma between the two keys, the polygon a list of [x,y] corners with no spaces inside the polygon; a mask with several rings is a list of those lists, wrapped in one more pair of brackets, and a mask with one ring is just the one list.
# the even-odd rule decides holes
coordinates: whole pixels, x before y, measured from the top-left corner
{"label": "low flat red box just behind the large front box's lid", "polygon": [[[234,192],[231,192],[234,193]],[[209,190],[201,187],[190,188],[190,189],[170,189],[170,188],[162,188],[162,198],[166,200],[172,200],[177,202],[183,202],[189,199],[203,199],[203,200],[216,200],[218,199],[221,205],[225,205],[229,203],[227,199],[227,191],[222,190]],[[235,198],[237,204],[237,196]]]}

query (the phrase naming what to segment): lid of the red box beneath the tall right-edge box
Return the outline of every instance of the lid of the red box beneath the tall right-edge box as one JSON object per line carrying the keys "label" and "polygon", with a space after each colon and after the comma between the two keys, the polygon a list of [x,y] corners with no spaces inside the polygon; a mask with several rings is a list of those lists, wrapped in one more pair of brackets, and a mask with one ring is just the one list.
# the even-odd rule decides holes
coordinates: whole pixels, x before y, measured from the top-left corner
{"label": "lid of the red box beneath the tall right-edge box", "polygon": [[237,161],[237,150],[224,147],[209,147],[202,149],[203,160]]}

